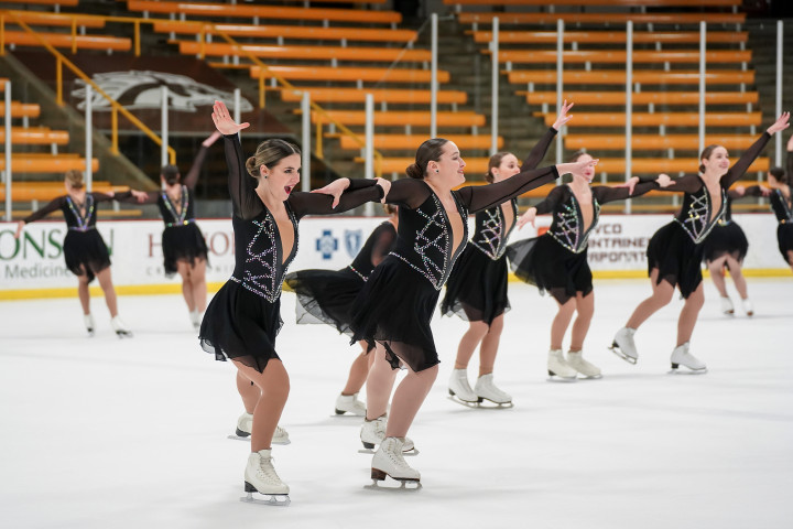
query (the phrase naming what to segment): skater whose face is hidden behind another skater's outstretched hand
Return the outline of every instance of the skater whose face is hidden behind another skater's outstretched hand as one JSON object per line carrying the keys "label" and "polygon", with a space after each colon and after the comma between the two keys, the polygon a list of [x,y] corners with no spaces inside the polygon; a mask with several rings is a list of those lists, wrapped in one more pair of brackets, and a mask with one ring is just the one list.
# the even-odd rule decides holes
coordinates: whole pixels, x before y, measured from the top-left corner
{"label": "skater whose face is hidden behind another skater's outstretched hand", "polygon": [[[571,159],[573,162],[587,160],[591,160],[591,156],[583,151]],[[663,174],[654,182],[639,183],[639,179],[633,176],[624,185],[590,186],[594,176],[595,170],[588,168],[583,174],[575,175],[573,182],[554,187],[544,201],[530,207],[518,220],[519,229],[526,223],[533,225],[536,215],[544,213],[553,214],[551,227],[540,237],[521,240],[507,248],[515,276],[536,285],[541,293],[550,292],[558,305],[551,324],[547,371],[548,376],[571,381],[576,380],[578,374],[585,378],[600,378],[600,368],[585,360],[582,354],[595,312],[587,242],[589,234],[597,226],[600,206],[643,195],[658,186],[664,187],[672,183]],[[577,316],[565,359],[562,342],[574,313]]]}

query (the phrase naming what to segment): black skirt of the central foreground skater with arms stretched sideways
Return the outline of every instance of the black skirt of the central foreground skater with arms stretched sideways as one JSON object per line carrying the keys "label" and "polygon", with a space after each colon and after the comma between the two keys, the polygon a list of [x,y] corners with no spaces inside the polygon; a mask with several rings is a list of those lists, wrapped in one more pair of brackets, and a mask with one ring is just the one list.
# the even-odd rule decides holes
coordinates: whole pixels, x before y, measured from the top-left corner
{"label": "black skirt of the central foreground skater with arms stretched sideways", "polygon": [[430,321],[439,292],[430,281],[394,256],[369,276],[352,305],[352,339],[385,347],[391,367],[402,359],[414,371],[438,364]]}

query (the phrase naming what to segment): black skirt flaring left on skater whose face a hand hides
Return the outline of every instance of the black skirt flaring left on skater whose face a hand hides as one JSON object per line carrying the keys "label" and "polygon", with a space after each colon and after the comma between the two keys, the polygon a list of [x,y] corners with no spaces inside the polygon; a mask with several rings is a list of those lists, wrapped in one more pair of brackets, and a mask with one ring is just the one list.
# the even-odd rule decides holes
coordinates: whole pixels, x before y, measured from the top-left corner
{"label": "black skirt flaring left on skater whose face a hand hides", "polygon": [[575,253],[550,235],[542,235],[508,246],[507,256],[518,279],[535,285],[541,294],[548,292],[561,304],[579,292],[589,295],[593,291],[586,249]]}

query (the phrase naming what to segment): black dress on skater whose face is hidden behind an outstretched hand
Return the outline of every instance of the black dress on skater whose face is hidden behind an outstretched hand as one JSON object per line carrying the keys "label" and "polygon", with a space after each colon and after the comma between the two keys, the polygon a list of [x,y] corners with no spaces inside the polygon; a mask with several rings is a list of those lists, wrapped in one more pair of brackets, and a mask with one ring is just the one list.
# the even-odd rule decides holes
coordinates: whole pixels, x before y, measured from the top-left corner
{"label": "black dress on skater whose face is hidden behind an outstretched hand", "polygon": [[624,201],[658,188],[655,182],[641,182],[633,187],[591,186],[593,218],[584,225],[584,213],[568,185],[561,185],[548,193],[536,206],[537,215],[551,213],[553,220],[546,233],[533,239],[520,240],[507,247],[510,267],[521,281],[535,285],[561,304],[567,303],[576,293],[589,295],[593,277],[587,262],[587,242],[597,226],[602,204]]}

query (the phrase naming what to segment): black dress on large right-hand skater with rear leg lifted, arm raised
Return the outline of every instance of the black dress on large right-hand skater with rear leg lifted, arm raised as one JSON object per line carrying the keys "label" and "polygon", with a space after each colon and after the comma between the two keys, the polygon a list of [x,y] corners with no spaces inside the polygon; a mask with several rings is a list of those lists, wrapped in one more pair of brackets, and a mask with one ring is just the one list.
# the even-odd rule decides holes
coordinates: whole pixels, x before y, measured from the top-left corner
{"label": "black dress on large right-hand skater with rear leg lifted, arm raised", "polygon": [[666,191],[683,191],[683,207],[677,216],[663,226],[650,239],[648,245],[648,276],[659,270],[658,284],[661,281],[677,287],[687,299],[702,282],[703,242],[725,213],[727,190],[743,176],[749,165],[760,154],[771,139],[763,132],[741,158],[719,181],[720,195],[713,203],[705,182],[698,174],[686,174],[675,180],[675,185]]}

